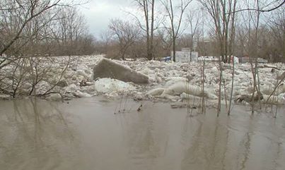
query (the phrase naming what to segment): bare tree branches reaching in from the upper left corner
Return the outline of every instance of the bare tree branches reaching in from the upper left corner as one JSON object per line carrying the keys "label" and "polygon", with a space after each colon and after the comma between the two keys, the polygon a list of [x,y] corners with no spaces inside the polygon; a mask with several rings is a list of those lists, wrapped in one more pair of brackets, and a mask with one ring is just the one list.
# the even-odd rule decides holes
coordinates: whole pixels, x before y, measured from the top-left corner
{"label": "bare tree branches reaching in from the upper left corner", "polygon": [[[42,23],[37,27],[41,30],[47,23],[57,18],[59,8],[76,6],[76,4],[74,0],[1,1],[0,16],[3,19],[0,20],[0,35],[5,38],[0,40],[0,56],[6,54],[6,57],[0,61],[0,68],[19,59],[21,49],[27,42],[33,40],[34,37],[27,37],[25,31],[27,27],[33,25],[32,22]],[[49,22],[41,22],[40,18]]]}

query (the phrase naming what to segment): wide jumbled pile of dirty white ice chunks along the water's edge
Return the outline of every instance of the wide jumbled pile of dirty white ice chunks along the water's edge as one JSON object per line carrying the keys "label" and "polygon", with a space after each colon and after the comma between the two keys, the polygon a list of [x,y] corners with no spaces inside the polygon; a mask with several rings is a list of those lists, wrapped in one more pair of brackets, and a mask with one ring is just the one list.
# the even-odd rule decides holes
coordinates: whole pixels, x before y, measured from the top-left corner
{"label": "wide jumbled pile of dirty white ice chunks along the water's edge", "polygon": [[[120,97],[122,95],[136,99],[171,100],[181,101],[183,99],[217,100],[219,92],[219,64],[207,62],[204,67],[204,92],[202,91],[202,66],[201,62],[173,63],[164,61],[136,61],[113,60],[116,66],[127,68],[136,75],[146,76],[147,84],[136,84],[128,82],[129,79],[117,80],[115,74],[111,78],[96,77],[93,80],[93,68],[104,59],[100,56],[60,56],[54,57],[52,61],[41,63],[40,68],[48,68],[47,73],[37,85],[32,95],[42,95],[52,92],[45,97],[49,99],[72,99],[74,97],[92,97],[105,95],[107,97]],[[69,66],[61,73],[69,61]],[[276,69],[278,68],[278,69]],[[116,70],[117,71],[117,70]],[[270,66],[259,65],[258,80],[262,101],[284,104],[285,85],[282,73],[285,71],[284,63],[272,63]],[[120,72],[120,71],[119,71]],[[13,67],[5,67],[0,70],[1,98],[7,98],[13,89]],[[16,73],[17,76],[20,73]],[[21,84],[21,95],[29,95],[33,89],[33,82],[25,75],[25,82]],[[130,77],[132,77],[130,76]],[[131,79],[132,80],[132,79]],[[223,64],[223,76],[221,87],[221,98],[230,99],[232,85],[231,64]],[[282,81],[281,81],[282,80]],[[277,84],[279,85],[277,87]],[[6,85],[6,86],[5,86]],[[275,89],[275,87],[277,87]],[[50,90],[52,88],[52,90]],[[274,90],[275,89],[275,90]],[[50,91],[49,91],[50,90]],[[251,95],[253,92],[252,71],[250,63],[238,63],[235,65],[233,80],[233,98]],[[269,97],[271,96],[271,97]]]}

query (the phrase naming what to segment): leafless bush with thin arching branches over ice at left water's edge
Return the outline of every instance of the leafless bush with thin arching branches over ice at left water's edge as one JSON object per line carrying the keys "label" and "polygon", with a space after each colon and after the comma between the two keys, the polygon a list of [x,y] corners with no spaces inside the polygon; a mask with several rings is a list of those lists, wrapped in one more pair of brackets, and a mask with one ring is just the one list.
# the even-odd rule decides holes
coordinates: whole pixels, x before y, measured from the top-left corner
{"label": "leafless bush with thin arching branches over ice at left water's edge", "polygon": [[63,62],[48,56],[22,57],[0,70],[0,91],[11,97],[42,97],[54,92],[59,93],[55,87],[63,79],[69,62],[70,59]]}

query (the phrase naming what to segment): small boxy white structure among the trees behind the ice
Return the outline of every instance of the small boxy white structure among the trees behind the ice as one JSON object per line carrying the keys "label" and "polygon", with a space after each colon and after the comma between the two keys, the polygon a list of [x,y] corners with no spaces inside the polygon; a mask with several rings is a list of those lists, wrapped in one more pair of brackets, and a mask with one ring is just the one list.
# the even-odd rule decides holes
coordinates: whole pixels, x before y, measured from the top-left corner
{"label": "small boxy white structure among the trees behind the ice", "polygon": [[[173,51],[171,51],[171,56],[173,56]],[[187,63],[190,61],[198,61],[198,52],[191,51],[190,48],[182,48],[181,51],[175,51],[175,60],[181,63]]]}

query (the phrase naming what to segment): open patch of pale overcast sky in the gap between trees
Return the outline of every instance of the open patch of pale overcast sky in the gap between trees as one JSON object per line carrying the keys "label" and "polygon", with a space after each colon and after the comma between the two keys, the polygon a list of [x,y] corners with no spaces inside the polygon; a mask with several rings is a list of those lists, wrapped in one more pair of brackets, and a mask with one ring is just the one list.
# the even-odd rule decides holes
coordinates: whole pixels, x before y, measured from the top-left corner
{"label": "open patch of pale overcast sky in the gap between trees", "polygon": [[91,34],[98,37],[107,30],[111,18],[125,18],[132,8],[132,0],[91,0],[81,8]]}

